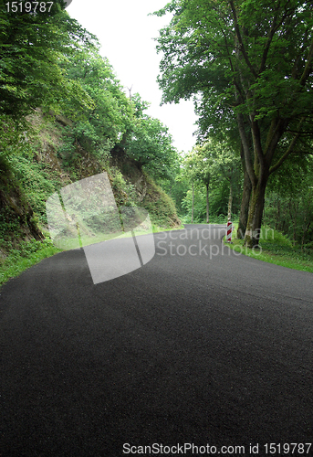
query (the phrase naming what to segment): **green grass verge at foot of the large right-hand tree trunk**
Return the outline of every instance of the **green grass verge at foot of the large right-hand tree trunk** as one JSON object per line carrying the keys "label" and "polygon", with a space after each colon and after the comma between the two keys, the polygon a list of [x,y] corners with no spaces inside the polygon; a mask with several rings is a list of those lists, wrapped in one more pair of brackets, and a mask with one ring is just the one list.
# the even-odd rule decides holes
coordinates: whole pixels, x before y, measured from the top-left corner
{"label": "green grass verge at foot of the large right-hand tree trunk", "polygon": [[[235,225],[235,231],[236,231]],[[235,233],[234,233],[235,235]],[[225,242],[225,239],[224,239]],[[292,241],[273,228],[262,228],[259,240],[259,250],[250,250],[243,244],[242,239],[232,238],[233,244],[227,244],[236,252],[241,252],[257,260],[274,263],[293,270],[309,271],[313,273],[313,258],[308,252],[302,252],[293,246]]]}

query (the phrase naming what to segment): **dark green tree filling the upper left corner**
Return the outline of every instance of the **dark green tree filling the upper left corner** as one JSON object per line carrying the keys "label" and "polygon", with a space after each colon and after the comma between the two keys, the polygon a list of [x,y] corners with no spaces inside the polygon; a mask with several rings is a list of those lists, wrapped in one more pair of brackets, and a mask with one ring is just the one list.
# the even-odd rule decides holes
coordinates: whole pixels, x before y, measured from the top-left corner
{"label": "dark green tree filling the upper left corner", "polygon": [[0,10],[0,113],[20,119],[45,104],[59,107],[68,98],[76,111],[89,106],[80,85],[59,65],[97,39],[54,2],[50,13],[21,14]]}

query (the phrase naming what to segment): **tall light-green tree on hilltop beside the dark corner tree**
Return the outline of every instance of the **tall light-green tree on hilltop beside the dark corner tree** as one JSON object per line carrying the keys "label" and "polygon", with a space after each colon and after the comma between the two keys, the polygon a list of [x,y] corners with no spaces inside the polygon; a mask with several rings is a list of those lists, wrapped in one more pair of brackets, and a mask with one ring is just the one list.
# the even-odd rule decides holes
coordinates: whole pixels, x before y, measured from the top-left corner
{"label": "tall light-green tree on hilltop beside the dark corner tree", "polygon": [[67,160],[75,157],[79,143],[98,158],[106,157],[127,131],[132,118],[131,103],[117,80],[107,58],[98,50],[81,48],[62,63],[68,80],[78,84],[91,101],[75,113],[76,104],[71,99],[64,101],[63,112],[76,119],[68,128],[68,142],[63,147]]}

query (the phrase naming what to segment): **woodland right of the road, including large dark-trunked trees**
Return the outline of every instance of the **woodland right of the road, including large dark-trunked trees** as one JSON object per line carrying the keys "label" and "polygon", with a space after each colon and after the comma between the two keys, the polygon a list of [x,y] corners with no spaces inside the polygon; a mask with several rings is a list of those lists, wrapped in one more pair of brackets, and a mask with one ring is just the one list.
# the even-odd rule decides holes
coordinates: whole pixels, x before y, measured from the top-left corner
{"label": "woodland right of the road, including large dark-trunked trees", "polygon": [[157,39],[163,102],[193,99],[199,115],[199,147],[187,159],[193,182],[208,190],[212,182],[214,207],[222,192],[214,176],[228,181],[250,248],[265,222],[302,248],[312,241],[312,8],[173,0],[154,13],[172,14]]}

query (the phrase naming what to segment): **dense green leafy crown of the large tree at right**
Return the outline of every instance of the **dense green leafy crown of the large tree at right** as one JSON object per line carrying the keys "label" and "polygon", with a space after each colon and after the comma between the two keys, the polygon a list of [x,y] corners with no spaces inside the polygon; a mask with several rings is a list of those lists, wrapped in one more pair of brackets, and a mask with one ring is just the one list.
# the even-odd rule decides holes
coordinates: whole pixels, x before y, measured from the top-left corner
{"label": "dense green leafy crown of the large tree at right", "polygon": [[279,0],[257,5],[172,0],[155,14],[169,11],[172,21],[157,38],[163,53],[159,82],[164,102],[195,94],[200,104],[211,99],[210,110],[204,112],[212,124],[227,115],[227,103],[236,110],[240,106],[241,112],[256,112],[258,119],[271,119],[278,108],[283,116],[284,110],[294,113],[297,93],[304,95],[301,109],[304,104],[308,108],[312,95],[301,90],[307,82],[301,78],[308,77],[304,70],[312,39],[312,5],[297,0],[288,7]]}

